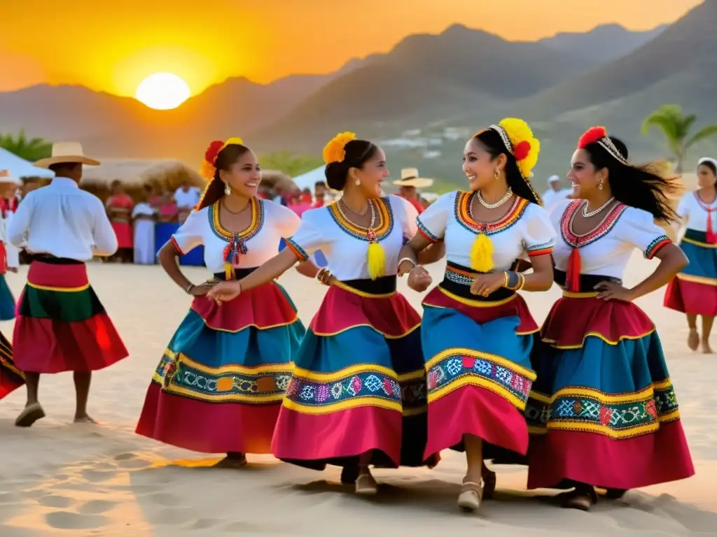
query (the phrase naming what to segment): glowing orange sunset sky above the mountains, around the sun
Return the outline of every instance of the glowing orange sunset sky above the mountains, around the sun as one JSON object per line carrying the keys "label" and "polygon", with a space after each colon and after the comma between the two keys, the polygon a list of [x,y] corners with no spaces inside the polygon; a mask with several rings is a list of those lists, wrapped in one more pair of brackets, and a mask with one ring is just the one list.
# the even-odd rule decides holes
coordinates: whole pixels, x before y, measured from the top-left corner
{"label": "glowing orange sunset sky above the mountains, around the sun", "polygon": [[39,82],[133,95],[153,72],[195,94],[227,77],[330,72],[454,23],[506,39],[618,22],[650,29],[701,0],[0,0],[0,91]]}

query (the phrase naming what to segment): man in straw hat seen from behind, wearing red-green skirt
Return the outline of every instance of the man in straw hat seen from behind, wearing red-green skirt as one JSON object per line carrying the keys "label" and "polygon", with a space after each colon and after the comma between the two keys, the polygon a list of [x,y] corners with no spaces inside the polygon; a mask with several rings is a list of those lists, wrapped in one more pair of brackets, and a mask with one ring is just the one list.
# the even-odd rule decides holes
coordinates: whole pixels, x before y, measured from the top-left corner
{"label": "man in straw hat seen from behind, wearing red-green skirt", "polygon": [[40,374],[65,371],[75,377],[75,422],[93,423],[87,415],[92,371],[128,356],[87,280],[85,262],[115,253],[117,237],[103,203],[80,190],[83,164],[99,163],[79,143],[54,144],[52,156],[35,163],[54,171],[52,183],[27,195],[7,231],[8,240],[31,256],[13,334],[15,364],[27,383],[19,427],[44,417]]}

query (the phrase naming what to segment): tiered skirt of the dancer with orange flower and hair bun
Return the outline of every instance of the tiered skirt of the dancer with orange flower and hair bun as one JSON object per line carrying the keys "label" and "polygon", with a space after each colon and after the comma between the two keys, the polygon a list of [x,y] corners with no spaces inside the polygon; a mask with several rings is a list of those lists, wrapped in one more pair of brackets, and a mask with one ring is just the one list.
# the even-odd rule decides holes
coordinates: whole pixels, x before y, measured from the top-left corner
{"label": "tiered skirt of the dancer with orange flower and hair bun", "polygon": [[417,311],[396,276],[337,281],[295,358],[275,457],[306,468],[424,464],[425,372]]}

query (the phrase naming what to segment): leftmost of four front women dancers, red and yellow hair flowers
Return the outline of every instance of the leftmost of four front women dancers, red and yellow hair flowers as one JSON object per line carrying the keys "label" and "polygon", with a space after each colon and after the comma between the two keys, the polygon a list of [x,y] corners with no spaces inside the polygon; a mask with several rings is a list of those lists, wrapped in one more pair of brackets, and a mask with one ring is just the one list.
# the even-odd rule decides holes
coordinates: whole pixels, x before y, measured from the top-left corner
{"label": "leftmost of four front women dancers, red and yellow hair flowers", "polygon": [[[240,466],[246,453],[271,453],[305,329],[272,279],[221,307],[206,293],[272,258],[300,219],[257,198],[259,164],[239,138],[212,142],[203,172],[210,181],[197,210],[159,252],[162,268],[194,301],[154,372],[136,432],[179,448],[227,453],[224,464]],[[195,285],[177,258],[201,245],[214,279]]]}

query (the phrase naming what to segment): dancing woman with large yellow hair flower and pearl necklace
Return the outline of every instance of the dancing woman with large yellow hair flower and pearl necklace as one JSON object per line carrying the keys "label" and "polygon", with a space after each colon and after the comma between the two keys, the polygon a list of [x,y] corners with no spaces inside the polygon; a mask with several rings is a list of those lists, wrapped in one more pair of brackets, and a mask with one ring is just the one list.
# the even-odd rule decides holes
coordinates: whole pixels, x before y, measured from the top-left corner
{"label": "dancing woman with large yellow hair flower and pearl necklace", "polygon": [[[443,281],[424,299],[422,345],[428,377],[424,457],[465,450],[467,472],[458,505],[475,511],[493,493],[483,465],[496,448],[525,455],[523,417],[531,384],[530,352],[538,325],[517,291],[553,284],[556,233],[531,185],[539,143],[523,120],[505,119],[465,145],[469,190],[442,195],[418,218],[419,234],[402,250],[399,275],[424,291],[417,251],[445,241]],[[533,272],[513,271],[529,256]],[[490,449],[489,449],[490,448]]]}

